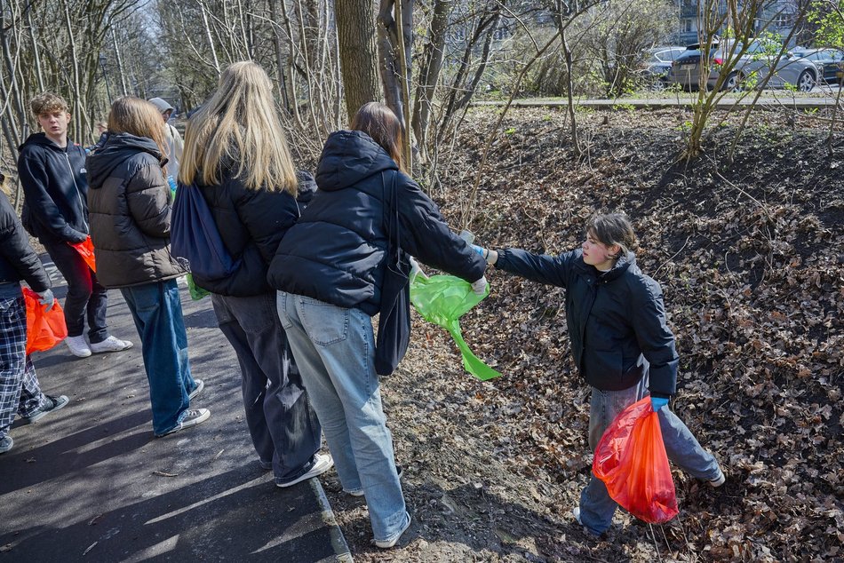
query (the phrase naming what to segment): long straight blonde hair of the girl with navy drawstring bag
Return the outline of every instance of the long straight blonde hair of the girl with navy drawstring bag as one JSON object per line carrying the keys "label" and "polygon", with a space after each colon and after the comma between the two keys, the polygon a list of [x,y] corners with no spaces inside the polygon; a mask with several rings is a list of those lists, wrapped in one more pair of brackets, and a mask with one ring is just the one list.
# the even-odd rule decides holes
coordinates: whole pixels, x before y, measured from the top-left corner
{"label": "long straight blonde hair of the girl with navy drawstring bag", "polygon": [[263,68],[248,60],[223,71],[217,91],[187,123],[179,181],[219,184],[227,162],[236,163],[235,176],[248,188],[297,192],[273,84]]}

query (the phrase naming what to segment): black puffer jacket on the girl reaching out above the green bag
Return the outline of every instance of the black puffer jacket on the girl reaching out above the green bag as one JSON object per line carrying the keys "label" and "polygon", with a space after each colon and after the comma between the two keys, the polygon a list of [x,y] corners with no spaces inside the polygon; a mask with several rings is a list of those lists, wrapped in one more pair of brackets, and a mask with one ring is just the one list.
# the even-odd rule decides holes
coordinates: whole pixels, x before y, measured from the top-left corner
{"label": "black puffer jacket on the girl reaching out above the green bag", "polygon": [[450,231],[436,204],[361,131],[331,133],[316,170],[318,190],[284,235],[270,285],[364,313],[378,313],[386,266],[385,199],[395,186],[402,250],[466,281],[486,262]]}

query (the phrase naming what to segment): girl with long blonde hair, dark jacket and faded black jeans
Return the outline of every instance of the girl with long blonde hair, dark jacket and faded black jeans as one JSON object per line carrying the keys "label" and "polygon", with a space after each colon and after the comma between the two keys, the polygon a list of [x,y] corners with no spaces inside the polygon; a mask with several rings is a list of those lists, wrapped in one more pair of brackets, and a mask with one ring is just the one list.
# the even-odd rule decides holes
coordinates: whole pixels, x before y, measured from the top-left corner
{"label": "girl with long blonde hair, dark jacket and faded black jeans", "polygon": [[273,470],[279,487],[319,475],[333,461],[317,453],[320,424],[275,313],[275,291],[267,285],[269,261],[314,191],[313,178],[293,166],[273,85],[259,65],[228,67],[217,91],[187,123],[179,183],[179,190],[201,192],[239,264],[225,278],[194,274],[194,281],[211,291],[219,329],[237,353],[259,463]]}

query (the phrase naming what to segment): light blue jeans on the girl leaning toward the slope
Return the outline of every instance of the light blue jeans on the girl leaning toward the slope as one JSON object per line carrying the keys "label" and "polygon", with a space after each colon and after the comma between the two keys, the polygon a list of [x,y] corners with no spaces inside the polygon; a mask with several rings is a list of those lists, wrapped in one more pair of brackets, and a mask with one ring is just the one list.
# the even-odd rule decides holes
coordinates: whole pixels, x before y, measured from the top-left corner
{"label": "light blue jeans on the girl leaning toward the slope", "polygon": [[363,490],[376,540],[407,522],[393,438],[381,408],[370,316],[284,291],[278,316],[322,423],[343,488]]}

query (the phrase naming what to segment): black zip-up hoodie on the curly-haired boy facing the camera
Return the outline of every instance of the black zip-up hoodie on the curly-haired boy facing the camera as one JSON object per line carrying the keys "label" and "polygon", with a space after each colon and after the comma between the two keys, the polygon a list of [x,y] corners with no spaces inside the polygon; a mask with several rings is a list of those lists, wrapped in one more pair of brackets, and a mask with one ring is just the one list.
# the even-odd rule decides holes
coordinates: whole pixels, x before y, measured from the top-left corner
{"label": "black zip-up hoodie on the curly-haired boy facing the camera", "polygon": [[20,146],[18,175],[23,186],[22,221],[41,242],[82,242],[88,235],[85,149],[61,148],[44,133]]}

